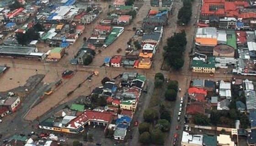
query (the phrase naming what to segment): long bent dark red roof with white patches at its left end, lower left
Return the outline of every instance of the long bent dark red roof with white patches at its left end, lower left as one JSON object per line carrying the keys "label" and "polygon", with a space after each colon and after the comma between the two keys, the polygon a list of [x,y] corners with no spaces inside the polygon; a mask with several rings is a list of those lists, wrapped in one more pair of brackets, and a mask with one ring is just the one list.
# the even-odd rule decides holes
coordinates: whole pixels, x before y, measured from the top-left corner
{"label": "long bent dark red roof with white patches at its left end, lower left", "polygon": [[99,121],[108,123],[111,119],[112,115],[108,112],[86,110],[84,113],[77,116],[75,119],[71,120],[68,123],[68,126],[66,127],[70,129],[77,129],[82,125],[85,125],[89,121]]}

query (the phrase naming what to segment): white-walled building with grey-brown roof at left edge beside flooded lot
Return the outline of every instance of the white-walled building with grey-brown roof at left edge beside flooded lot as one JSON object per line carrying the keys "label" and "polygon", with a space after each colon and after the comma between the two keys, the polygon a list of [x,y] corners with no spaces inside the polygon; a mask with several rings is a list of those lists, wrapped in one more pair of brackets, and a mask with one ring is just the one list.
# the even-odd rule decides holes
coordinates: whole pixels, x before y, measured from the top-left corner
{"label": "white-walled building with grey-brown roof at left edge beside flooded lot", "polygon": [[20,105],[20,97],[7,97],[4,100],[0,100],[0,106],[7,107],[11,112],[15,112]]}

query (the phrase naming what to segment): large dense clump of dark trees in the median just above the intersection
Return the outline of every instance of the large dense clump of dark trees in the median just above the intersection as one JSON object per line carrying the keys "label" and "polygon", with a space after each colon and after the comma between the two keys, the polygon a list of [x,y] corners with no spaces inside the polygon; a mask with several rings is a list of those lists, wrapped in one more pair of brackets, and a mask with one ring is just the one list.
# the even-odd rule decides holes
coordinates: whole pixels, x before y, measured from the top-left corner
{"label": "large dense clump of dark trees in the median just above the intersection", "polygon": [[180,69],[184,65],[184,51],[187,45],[186,32],[175,33],[167,39],[167,45],[164,47],[164,58],[173,69]]}

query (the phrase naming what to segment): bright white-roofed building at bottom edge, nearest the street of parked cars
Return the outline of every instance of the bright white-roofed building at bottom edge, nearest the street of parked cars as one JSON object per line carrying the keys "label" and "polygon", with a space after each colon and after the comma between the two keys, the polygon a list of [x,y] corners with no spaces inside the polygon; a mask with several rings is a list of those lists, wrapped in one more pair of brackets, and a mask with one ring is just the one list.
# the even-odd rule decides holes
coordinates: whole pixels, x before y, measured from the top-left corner
{"label": "bright white-roofed building at bottom edge, nearest the street of parked cars", "polygon": [[191,135],[183,131],[181,146],[203,146],[203,135]]}

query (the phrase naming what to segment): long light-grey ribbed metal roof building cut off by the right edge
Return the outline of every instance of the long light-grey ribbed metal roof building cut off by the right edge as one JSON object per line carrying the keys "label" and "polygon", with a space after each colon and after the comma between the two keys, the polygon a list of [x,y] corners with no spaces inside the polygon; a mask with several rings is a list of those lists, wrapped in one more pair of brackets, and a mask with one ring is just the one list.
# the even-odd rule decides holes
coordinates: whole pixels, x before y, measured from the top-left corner
{"label": "long light-grey ribbed metal roof building cut off by the right edge", "polygon": [[245,98],[246,98],[246,109],[256,110],[256,92],[255,90],[245,90]]}

